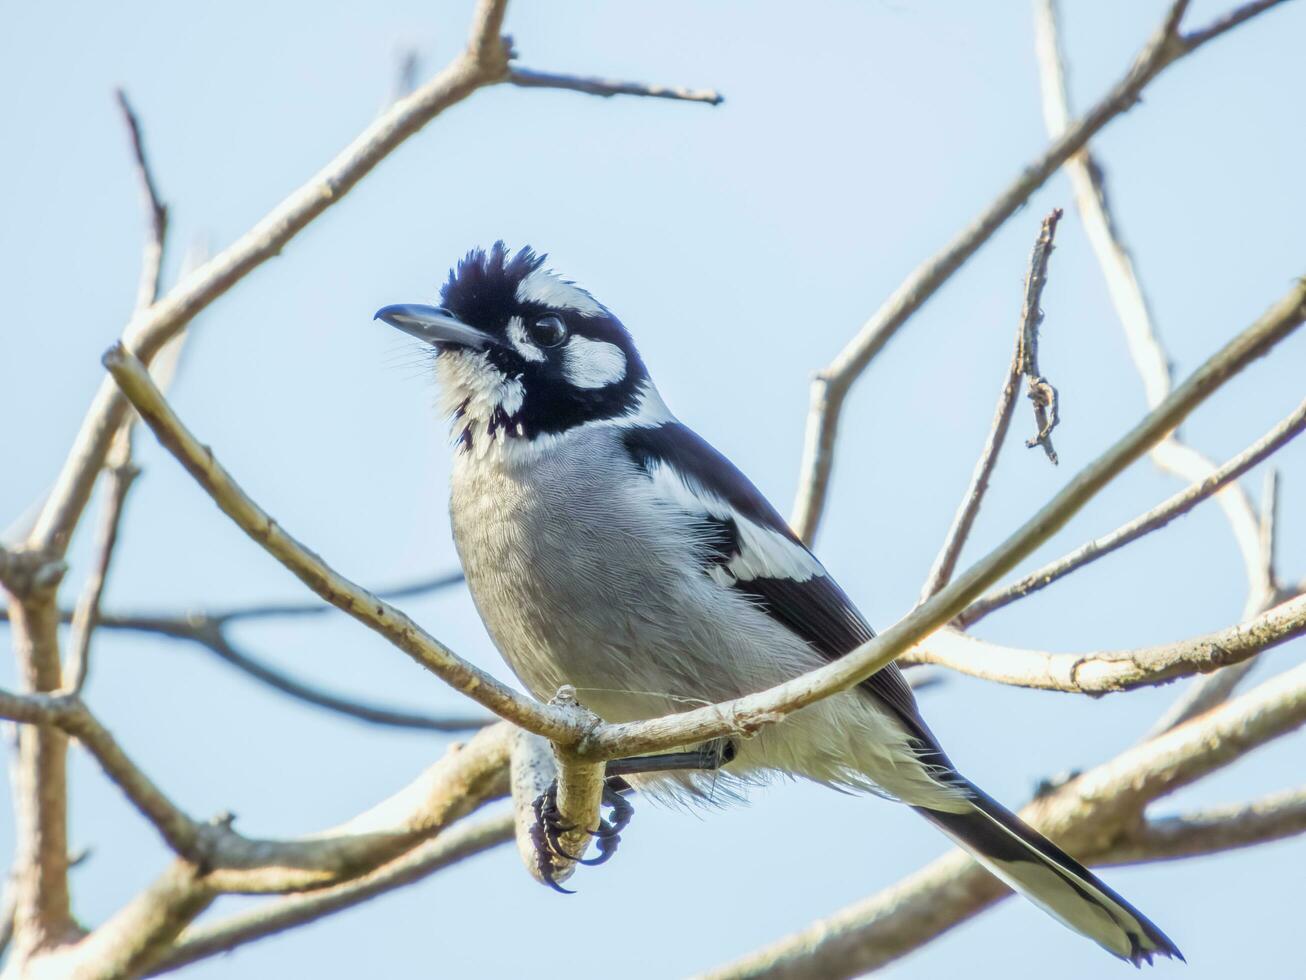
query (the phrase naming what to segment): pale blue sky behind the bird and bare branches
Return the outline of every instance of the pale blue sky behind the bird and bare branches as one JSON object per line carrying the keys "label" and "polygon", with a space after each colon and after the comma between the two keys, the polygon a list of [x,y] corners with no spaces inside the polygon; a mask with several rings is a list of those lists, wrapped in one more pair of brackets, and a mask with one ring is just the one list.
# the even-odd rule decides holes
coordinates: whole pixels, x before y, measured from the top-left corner
{"label": "pale blue sky behind the bird and bare branches", "polygon": [[[1190,24],[1228,5],[1196,3]],[[1165,4],[1066,7],[1083,107],[1127,67]],[[469,12],[469,0],[0,7],[0,525],[56,473],[99,354],[132,304],[142,220],[112,88],[127,88],[146,127],[172,208],[175,270],[187,243],[230,243],[353,139],[388,98],[397,51],[417,46],[423,77],[443,64]],[[379,306],[430,301],[475,244],[504,238],[550,252],[631,328],[673,410],[784,511],[811,372],[1046,142],[1024,0],[517,3],[508,30],[525,65],[714,86],[727,101],[474,95],[205,312],[174,392],[256,499],[374,587],[456,564],[434,383],[413,345],[371,321]],[[1170,69],[1096,144],[1179,372],[1306,272],[1303,37],[1306,5],[1264,16]],[[989,425],[1040,218],[1070,204],[1064,178],[1053,179],[895,340],[848,406],[818,553],[872,623],[891,623],[917,596]],[[1072,210],[1043,306],[1062,466],[1020,446],[1033,425],[1021,405],[968,559],[1144,409]],[[1303,367],[1298,336],[1205,405],[1187,436],[1217,459],[1233,455],[1302,397]],[[107,608],[306,595],[151,436],[140,447],[145,474]],[[1284,572],[1299,578],[1306,443],[1280,466]],[[1136,465],[1037,558],[1177,486]],[[1249,486],[1259,494],[1259,472]],[[65,597],[85,575],[88,537],[73,549]],[[1158,643],[1235,621],[1243,589],[1228,525],[1207,506],[978,632],[1057,651]],[[405,608],[508,677],[464,591]],[[334,690],[468,708],[340,615],[239,638]],[[1271,653],[1258,677],[1302,652],[1297,643]],[[175,643],[101,635],[94,656],[88,699],[125,750],[188,811],[230,809],[249,834],[347,818],[447,742],[287,702]],[[8,659],[0,683],[13,683]],[[1130,745],[1177,693],[1094,702],[948,677],[922,700],[963,770],[1015,806],[1041,776]],[[1299,785],[1303,750],[1302,734],[1284,738],[1160,811]],[[76,912],[94,924],[166,856],[80,751],[72,775],[72,843],[91,849],[73,872]],[[187,976],[551,976],[564,960],[584,976],[684,975],[892,885],[948,847],[905,808],[811,785],[777,784],[751,806],[705,815],[636,805],[616,860],[582,870],[575,896],[534,885],[503,848]],[[7,864],[12,831],[0,808]],[[1165,963],[1157,976],[1280,977],[1301,968],[1303,868],[1298,839],[1105,877],[1187,954],[1188,967]],[[887,973],[1071,980],[1127,967],[1007,902]]]}

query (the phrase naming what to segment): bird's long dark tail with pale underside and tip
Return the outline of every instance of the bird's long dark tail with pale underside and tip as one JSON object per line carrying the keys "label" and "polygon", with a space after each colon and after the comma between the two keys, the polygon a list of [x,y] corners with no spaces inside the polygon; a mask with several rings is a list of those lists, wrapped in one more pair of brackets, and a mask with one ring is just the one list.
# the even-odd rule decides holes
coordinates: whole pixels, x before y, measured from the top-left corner
{"label": "bird's long dark tail with pale underside and tip", "polygon": [[1096,874],[973,784],[963,813],[913,808],[980,864],[1063,925],[1140,966],[1153,955],[1183,959],[1147,916]]}

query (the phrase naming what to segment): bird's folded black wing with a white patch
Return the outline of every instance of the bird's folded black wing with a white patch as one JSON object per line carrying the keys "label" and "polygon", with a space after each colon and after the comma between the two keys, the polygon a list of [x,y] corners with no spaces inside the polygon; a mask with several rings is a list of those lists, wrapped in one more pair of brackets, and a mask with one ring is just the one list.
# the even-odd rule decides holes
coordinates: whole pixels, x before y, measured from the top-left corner
{"label": "bird's folded black wing with a white patch", "polygon": [[[679,422],[629,429],[626,449],[661,497],[703,528],[703,571],[748,596],[828,660],[875,631],[784,517],[730,460]],[[922,742],[927,762],[952,768],[921,717],[901,669],[889,664],[861,687]]]}

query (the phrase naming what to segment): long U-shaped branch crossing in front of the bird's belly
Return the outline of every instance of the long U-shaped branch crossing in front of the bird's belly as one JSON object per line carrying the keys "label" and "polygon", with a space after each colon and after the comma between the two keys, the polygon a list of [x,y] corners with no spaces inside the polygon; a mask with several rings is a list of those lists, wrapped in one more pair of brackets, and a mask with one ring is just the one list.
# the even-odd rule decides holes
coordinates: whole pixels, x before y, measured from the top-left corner
{"label": "long U-shaped branch crossing in front of the bird's belly", "polygon": [[468,664],[393,606],[345,579],[282,531],[218,465],[213,452],[185,430],[150,380],[145,367],[116,345],[104,365],[154,430],[213,500],[251,538],[326,601],[384,635],[432,673],[521,728],[545,736],[579,759],[598,760],[747,736],[785,715],[859,683],[961,612],[1064,525],[1107,482],[1162,439],[1229,378],[1296,329],[1306,318],[1306,280],[1297,282],[1247,329],[1202,365],[1132,430],[1085,466],[1003,545],[951,585],[874,640],[827,666],[767,691],[679,715],[627,724],[590,725],[560,706],[539,706]]}

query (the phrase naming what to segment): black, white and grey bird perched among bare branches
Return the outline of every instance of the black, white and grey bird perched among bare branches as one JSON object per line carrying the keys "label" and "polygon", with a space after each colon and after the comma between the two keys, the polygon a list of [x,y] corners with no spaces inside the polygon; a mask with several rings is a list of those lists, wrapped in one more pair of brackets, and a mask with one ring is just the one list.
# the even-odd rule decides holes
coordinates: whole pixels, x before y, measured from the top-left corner
{"label": "black, white and grey bird perched among bare branches", "polygon": [[[376,316],[430,344],[453,419],[453,534],[477,609],[521,682],[607,721],[738,698],[874,632],[784,517],[667,410],[629,333],[529,248],[496,243],[440,306]],[[1092,872],[966,780],[889,665],[738,745],[721,792],[771,772],[900,800],[1071,929],[1139,964],[1182,954]]]}

